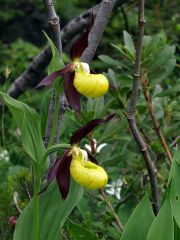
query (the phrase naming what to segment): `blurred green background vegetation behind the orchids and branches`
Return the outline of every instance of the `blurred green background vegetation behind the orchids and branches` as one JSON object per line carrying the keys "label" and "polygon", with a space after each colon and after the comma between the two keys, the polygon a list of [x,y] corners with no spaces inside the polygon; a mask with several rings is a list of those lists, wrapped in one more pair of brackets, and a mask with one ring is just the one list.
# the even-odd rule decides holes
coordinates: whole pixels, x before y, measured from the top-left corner
{"label": "blurred green background vegetation behind the orchids and branches", "polygon": [[[56,0],[54,2],[63,27],[73,17],[100,1]],[[156,119],[172,154],[177,148],[180,135],[179,12],[178,0],[147,1],[146,37],[143,42],[143,75],[147,80]],[[42,30],[48,32],[42,1],[1,0],[1,91],[8,89],[34,56],[47,44]],[[99,163],[109,174],[109,185],[105,188],[106,195],[123,224],[126,223],[144,192],[150,193],[147,170],[126,121],[132,86],[133,41],[136,41],[136,32],[137,1],[131,0],[123,7],[114,10],[92,63],[92,67],[97,72],[107,74],[115,89],[111,89],[105,97],[96,100],[84,98],[81,122],[68,109],[64,115],[60,136],[61,142],[69,142],[72,132],[83,123],[95,117],[104,117],[110,112],[117,113],[117,120],[98,128],[91,138],[97,140],[97,146],[103,147],[96,155]],[[68,56],[68,53],[65,53],[65,56]],[[50,91],[27,90],[19,99],[41,114],[42,132],[44,132]],[[157,167],[159,191],[162,196],[167,183],[169,162],[153,129],[142,92],[138,100],[137,120]],[[11,217],[16,219],[31,197],[31,166],[21,145],[21,133],[6,109],[1,110],[0,134],[2,136],[0,138],[0,239],[10,240],[15,226]],[[89,142],[90,139],[86,139],[82,146]],[[114,223],[113,214],[106,208],[97,191],[85,192],[85,197],[73,211],[70,219],[93,230],[100,239],[119,239],[119,229]],[[73,230],[65,226],[65,235],[71,231]],[[70,236],[68,239],[71,239]]]}

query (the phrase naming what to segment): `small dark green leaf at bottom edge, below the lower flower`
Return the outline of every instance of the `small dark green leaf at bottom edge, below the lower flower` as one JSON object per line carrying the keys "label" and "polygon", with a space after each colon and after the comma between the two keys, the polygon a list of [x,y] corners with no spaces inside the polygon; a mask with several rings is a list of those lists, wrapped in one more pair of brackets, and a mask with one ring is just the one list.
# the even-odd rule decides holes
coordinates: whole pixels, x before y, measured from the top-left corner
{"label": "small dark green leaf at bottom edge, below the lower flower", "polygon": [[94,233],[71,220],[68,220],[68,232],[73,240],[98,240]]}

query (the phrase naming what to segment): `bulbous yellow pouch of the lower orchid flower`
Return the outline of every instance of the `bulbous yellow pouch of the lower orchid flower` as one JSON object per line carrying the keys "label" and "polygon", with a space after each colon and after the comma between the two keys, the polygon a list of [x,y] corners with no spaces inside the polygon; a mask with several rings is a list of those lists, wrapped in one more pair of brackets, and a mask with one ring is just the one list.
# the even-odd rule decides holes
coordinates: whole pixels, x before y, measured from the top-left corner
{"label": "bulbous yellow pouch of the lower orchid flower", "polygon": [[70,173],[78,184],[90,189],[102,188],[108,181],[105,170],[89,161],[87,152],[77,147],[72,149]]}

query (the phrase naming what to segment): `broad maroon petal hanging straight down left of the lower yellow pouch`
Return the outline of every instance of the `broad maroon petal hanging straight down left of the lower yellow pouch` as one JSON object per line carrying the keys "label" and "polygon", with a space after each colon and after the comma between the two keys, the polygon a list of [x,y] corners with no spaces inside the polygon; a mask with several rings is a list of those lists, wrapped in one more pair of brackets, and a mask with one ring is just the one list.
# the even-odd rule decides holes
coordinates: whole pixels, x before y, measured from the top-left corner
{"label": "broad maroon petal hanging straight down left of the lower yellow pouch", "polygon": [[61,158],[59,167],[56,172],[56,180],[63,200],[66,199],[69,192],[71,161],[72,155],[69,154],[68,150]]}

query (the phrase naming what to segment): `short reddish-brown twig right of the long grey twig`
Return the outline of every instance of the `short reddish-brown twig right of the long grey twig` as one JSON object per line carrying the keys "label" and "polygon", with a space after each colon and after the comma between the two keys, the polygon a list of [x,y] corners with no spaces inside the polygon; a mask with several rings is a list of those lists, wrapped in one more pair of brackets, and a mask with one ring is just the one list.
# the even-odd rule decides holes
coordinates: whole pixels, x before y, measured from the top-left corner
{"label": "short reddish-brown twig right of the long grey twig", "polygon": [[153,104],[152,104],[152,101],[151,101],[151,97],[150,97],[150,94],[148,92],[146,81],[143,80],[143,77],[141,77],[141,83],[142,83],[144,97],[145,97],[147,105],[148,105],[149,114],[150,114],[151,119],[152,119],[154,130],[155,130],[157,136],[159,137],[161,145],[163,146],[164,151],[166,153],[166,156],[169,159],[169,163],[171,164],[172,161],[173,161],[173,157],[172,157],[171,152],[169,150],[169,147],[168,147],[168,145],[166,143],[164,135],[163,135],[163,133],[161,131],[161,128],[160,128],[160,126],[159,126],[159,124],[158,124],[158,122],[156,120],[156,115],[155,115],[155,112],[154,112],[154,108],[153,108]]}

